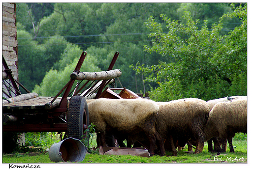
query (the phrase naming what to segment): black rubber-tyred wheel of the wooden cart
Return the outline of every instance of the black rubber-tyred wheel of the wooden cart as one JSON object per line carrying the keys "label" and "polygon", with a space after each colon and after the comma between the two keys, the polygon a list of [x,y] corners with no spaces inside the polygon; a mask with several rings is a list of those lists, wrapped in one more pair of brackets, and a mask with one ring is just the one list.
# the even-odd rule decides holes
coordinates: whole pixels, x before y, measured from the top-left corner
{"label": "black rubber-tyred wheel of the wooden cart", "polygon": [[90,136],[84,133],[88,126],[89,112],[85,98],[83,96],[71,97],[67,114],[67,136],[87,140],[89,145]]}

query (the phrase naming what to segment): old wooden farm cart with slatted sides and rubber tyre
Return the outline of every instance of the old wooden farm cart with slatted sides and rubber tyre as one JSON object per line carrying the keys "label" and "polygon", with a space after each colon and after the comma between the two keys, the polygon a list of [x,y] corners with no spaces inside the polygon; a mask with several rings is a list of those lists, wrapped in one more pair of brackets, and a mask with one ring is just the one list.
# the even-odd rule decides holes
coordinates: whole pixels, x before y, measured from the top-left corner
{"label": "old wooden farm cart with slatted sides and rubber tyre", "polygon": [[[7,64],[3,63],[7,70],[6,77],[11,79],[17,90],[17,97],[3,100],[3,132],[66,132],[64,138],[81,139],[89,126],[86,99],[98,98],[105,86],[122,74],[119,69],[112,70],[119,52],[115,53],[107,71],[81,72],[86,54],[82,53],[69,82],[55,97],[40,97],[36,93],[20,94],[16,85],[18,81],[13,80]],[[81,85],[83,80],[87,81]],[[80,83],[71,90],[75,81]],[[59,97],[63,91],[63,96]]]}

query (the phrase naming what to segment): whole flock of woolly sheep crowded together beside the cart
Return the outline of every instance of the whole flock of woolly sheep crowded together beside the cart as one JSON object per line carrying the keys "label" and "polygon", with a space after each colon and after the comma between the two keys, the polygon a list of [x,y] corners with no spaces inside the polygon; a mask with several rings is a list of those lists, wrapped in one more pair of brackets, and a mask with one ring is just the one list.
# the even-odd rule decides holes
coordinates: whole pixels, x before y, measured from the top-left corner
{"label": "whole flock of woolly sheep crowded together beside the cart", "polygon": [[207,102],[196,98],[169,102],[99,98],[87,100],[87,104],[90,124],[96,125],[98,146],[107,146],[108,133],[118,143],[127,140],[127,146],[134,147],[138,141],[146,143],[150,154],[160,151],[161,156],[165,150],[176,156],[177,147],[186,143],[195,146],[194,153],[200,153],[204,142],[208,142],[211,152],[225,152],[228,141],[230,152],[234,152],[235,133],[247,133],[247,96]]}

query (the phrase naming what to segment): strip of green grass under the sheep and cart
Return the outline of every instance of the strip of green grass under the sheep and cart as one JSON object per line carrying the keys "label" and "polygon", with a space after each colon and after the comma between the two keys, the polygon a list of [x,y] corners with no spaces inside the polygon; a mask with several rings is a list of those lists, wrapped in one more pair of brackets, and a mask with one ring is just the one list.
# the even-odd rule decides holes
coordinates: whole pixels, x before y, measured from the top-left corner
{"label": "strip of green grass under the sheep and cart", "polygon": [[[208,152],[208,145],[205,142],[203,152],[200,154],[187,154],[187,147],[185,150],[179,151],[177,156],[171,156],[171,152],[166,152],[166,156],[152,156],[150,158],[139,156],[114,156],[114,155],[100,155],[97,151],[87,153],[85,159],[81,163],[247,163],[247,139],[234,139],[233,146],[235,153],[227,152],[217,155],[216,153]],[[31,156],[32,153],[25,153],[24,155],[16,153],[15,155],[3,155],[2,163],[53,163],[50,161],[48,153],[40,153]]]}

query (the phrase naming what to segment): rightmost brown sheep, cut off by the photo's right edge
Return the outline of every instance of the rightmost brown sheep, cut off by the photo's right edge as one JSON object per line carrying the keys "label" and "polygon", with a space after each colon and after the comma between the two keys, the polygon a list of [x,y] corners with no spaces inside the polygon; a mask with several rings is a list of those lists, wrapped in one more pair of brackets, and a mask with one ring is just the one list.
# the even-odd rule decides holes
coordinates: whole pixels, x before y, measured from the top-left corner
{"label": "rightmost brown sheep, cut off by the photo's right edge", "polygon": [[[230,152],[234,152],[232,138],[238,132],[247,133],[247,99],[217,103],[209,113],[205,126],[205,141],[214,137],[219,137],[223,142],[227,139]],[[217,151],[225,152],[225,143],[223,146],[222,150],[219,148]]]}

